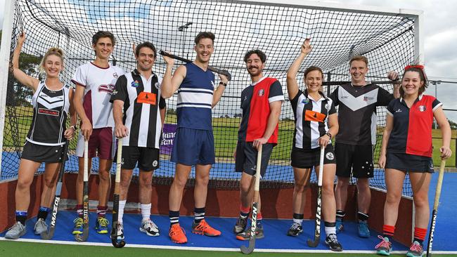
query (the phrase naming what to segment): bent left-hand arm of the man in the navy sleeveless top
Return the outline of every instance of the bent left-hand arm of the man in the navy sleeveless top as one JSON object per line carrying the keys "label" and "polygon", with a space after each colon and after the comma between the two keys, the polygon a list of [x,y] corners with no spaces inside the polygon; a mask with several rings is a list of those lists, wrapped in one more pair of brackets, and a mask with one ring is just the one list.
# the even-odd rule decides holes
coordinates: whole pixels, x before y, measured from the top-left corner
{"label": "bent left-hand arm of the man in the navy sleeveless top", "polygon": [[169,58],[168,56],[162,55],[165,62],[167,62],[167,70],[165,70],[165,75],[162,79],[162,86],[160,88],[162,98],[171,98],[174,92],[178,90],[179,85],[181,85],[184,77],[186,77],[186,66],[179,66],[174,74],[172,75],[174,59]]}

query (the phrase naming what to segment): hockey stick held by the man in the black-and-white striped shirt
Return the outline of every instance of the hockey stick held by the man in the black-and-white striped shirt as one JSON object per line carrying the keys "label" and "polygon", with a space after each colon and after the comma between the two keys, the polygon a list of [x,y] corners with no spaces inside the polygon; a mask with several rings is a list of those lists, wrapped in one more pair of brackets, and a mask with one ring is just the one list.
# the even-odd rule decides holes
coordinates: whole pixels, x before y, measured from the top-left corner
{"label": "hockey stick held by the man in the black-and-white striped shirt", "polygon": [[124,239],[117,240],[117,226],[120,225],[117,221],[119,217],[119,191],[121,182],[121,165],[122,165],[122,138],[117,139],[117,163],[116,163],[116,178],[115,178],[115,193],[112,197],[112,228],[111,228],[111,244],[116,248],[125,246]]}

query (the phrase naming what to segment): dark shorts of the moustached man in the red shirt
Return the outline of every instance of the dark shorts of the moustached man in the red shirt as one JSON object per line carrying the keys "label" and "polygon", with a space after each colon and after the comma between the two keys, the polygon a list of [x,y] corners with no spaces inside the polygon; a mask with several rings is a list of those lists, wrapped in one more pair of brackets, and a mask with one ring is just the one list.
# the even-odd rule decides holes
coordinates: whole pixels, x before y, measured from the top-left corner
{"label": "dark shorts of the moustached man in the red shirt", "polygon": [[[264,176],[266,166],[270,159],[273,144],[262,145],[262,165],[260,166],[260,176]],[[254,175],[257,167],[257,149],[252,146],[252,142],[238,142],[236,145],[235,171]]]}

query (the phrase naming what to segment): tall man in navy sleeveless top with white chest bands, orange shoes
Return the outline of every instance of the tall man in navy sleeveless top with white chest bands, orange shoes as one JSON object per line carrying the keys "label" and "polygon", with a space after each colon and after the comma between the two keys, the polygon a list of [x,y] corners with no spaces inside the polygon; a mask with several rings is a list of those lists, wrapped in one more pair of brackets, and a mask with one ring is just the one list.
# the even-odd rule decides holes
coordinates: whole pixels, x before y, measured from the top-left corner
{"label": "tall man in navy sleeveless top with white chest bands, orange shoes", "polygon": [[192,232],[210,237],[221,235],[219,230],[212,228],[205,220],[207,185],[211,166],[215,162],[211,110],[221,99],[228,83],[228,79],[219,74],[221,81],[214,90],[214,74],[208,70],[214,51],[214,38],[211,32],[200,32],[195,37],[194,50],[197,57],[193,62],[179,66],[173,75],[174,60],[164,56],[167,70],[162,81],[162,96],[170,98],[178,91],[178,129],[172,150],[172,162],[176,163],[176,171],[169,192],[169,237],[178,244],[187,242],[187,237],[179,225],[179,209],[184,186],[193,165],[195,218]]}

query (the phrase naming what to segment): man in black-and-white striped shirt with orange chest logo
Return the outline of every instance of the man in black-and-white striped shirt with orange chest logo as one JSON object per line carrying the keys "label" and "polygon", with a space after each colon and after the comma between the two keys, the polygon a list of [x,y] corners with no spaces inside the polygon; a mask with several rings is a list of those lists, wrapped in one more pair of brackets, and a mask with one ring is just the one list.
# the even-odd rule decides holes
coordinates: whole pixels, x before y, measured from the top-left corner
{"label": "man in black-and-white striped shirt with orange chest logo", "polygon": [[149,236],[158,236],[157,225],[150,220],[150,196],[153,171],[159,167],[160,133],[165,121],[165,100],[160,95],[162,78],[152,70],[157,51],[150,42],[136,46],[136,69],[117,79],[113,102],[115,135],[122,140],[122,175],[120,182],[118,237],[123,237],[122,216],[127,202],[131,174],[138,162],[140,230]]}

